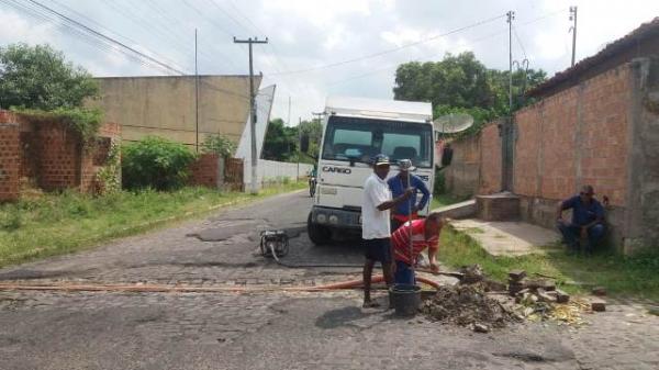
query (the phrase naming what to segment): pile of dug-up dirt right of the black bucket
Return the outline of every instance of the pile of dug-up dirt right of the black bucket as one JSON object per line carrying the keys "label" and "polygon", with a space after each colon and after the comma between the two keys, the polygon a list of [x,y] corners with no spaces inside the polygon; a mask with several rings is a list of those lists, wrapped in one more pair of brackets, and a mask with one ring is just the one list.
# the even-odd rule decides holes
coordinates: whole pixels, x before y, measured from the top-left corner
{"label": "pile of dug-up dirt right of the black bucket", "polygon": [[478,285],[439,287],[437,294],[423,302],[421,311],[431,319],[474,329],[504,327],[518,321],[512,310],[490,298]]}

